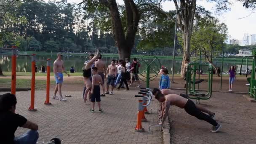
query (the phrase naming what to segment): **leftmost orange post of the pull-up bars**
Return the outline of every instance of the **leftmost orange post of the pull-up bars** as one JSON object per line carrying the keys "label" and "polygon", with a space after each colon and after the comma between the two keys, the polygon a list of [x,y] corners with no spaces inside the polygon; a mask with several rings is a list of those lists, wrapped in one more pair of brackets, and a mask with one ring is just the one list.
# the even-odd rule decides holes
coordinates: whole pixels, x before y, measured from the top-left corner
{"label": "leftmost orange post of the pull-up bars", "polygon": [[17,47],[12,46],[11,56],[11,94],[16,94],[16,59],[17,59]]}

